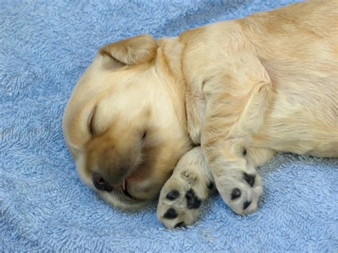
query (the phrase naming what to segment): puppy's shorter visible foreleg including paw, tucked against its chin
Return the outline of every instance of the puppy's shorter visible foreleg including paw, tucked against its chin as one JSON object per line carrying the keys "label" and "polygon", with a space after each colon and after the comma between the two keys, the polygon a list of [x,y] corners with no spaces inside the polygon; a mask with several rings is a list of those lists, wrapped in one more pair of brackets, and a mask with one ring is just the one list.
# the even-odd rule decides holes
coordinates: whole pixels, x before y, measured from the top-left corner
{"label": "puppy's shorter visible foreleg including paw, tucked against its chin", "polygon": [[179,160],[160,192],[158,220],[169,229],[193,224],[212,185],[201,148],[193,148]]}

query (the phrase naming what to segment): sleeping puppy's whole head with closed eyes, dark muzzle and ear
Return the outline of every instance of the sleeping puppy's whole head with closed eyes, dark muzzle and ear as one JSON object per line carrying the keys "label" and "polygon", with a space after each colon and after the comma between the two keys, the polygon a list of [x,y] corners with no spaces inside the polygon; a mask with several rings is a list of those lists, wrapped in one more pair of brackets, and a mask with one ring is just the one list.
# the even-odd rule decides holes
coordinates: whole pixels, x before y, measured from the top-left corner
{"label": "sleeping puppy's whole head with closed eyes, dark muzzle and ear", "polygon": [[101,48],[63,115],[78,174],[116,207],[155,197],[190,148],[184,103],[158,51],[149,35]]}

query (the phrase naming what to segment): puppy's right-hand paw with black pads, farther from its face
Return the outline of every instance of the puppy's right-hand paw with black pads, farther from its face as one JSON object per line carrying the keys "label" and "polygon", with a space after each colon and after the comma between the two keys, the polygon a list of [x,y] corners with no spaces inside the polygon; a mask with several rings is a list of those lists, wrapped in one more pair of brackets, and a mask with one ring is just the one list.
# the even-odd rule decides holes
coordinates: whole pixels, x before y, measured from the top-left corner
{"label": "puppy's right-hand paw with black pads, farther from its face", "polygon": [[218,177],[215,182],[222,199],[238,215],[248,215],[257,210],[263,185],[256,171],[235,170]]}

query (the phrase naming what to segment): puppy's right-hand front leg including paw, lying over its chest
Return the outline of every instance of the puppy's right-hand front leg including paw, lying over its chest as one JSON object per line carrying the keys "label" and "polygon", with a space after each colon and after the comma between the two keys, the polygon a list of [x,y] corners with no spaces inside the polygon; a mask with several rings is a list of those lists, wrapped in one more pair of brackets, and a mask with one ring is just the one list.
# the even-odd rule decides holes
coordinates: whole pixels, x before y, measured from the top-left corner
{"label": "puppy's right-hand front leg including paw, lying over its chest", "polygon": [[260,130],[272,97],[271,82],[267,75],[263,77],[262,81],[252,78],[254,82],[248,77],[247,86],[235,77],[228,78],[223,86],[216,84],[205,89],[209,92],[201,146],[218,192],[239,215],[257,209],[263,186],[255,167],[257,162],[262,163],[260,160],[275,154],[273,150],[260,148],[257,149],[260,152],[250,155],[262,158],[250,159],[246,155],[247,148],[255,149],[252,139]]}

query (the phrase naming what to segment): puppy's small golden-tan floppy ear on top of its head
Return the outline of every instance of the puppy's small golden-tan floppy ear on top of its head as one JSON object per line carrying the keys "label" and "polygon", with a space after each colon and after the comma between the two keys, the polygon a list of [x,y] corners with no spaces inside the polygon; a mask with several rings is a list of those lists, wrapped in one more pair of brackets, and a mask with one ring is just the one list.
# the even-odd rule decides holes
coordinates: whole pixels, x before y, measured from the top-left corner
{"label": "puppy's small golden-tan floppy ear on top of its head", "polygon": [[103,46],[100,53],[108,55],[123,64],[133,65],[153,59],[157,48],[158,46],[153,36],[143,34]]}

